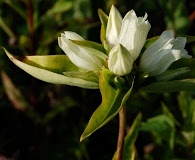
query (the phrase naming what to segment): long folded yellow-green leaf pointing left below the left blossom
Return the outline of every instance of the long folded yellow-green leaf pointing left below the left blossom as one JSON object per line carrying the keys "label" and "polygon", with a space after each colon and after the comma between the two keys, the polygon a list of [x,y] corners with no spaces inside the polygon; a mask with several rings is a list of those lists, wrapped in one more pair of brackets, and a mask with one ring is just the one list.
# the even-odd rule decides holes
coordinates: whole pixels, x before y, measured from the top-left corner
{"label": "long folded yellow-green leaf pointing left below the left blossom", "polygon": [[[79,71],[65,55],[53,56],[26,56],[16,58],[5,48],[2,48],[9,59],[19,68],[42,81],[54,84],[66,84],[88,89],[98,89],[99,84],[94,81],[84,80],[76,77],[68,77],[64,71]],[[82,71],[83,72],[83,71]]]}

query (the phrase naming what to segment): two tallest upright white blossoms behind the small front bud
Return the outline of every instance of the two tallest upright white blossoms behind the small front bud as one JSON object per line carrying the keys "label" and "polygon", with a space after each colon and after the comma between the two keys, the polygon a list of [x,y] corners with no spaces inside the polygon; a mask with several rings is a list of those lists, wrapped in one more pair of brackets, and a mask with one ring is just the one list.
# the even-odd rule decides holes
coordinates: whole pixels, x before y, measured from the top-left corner
{"label": "two tallest upright white blossoms behind the small front bud", "polygon": [[122,19],[118,10],[112,6],[106,28],[106,41],[111,50],[117,44],[122,44],[137,59],[146,41],[150,23],[144,17],[137,17],[134,10],[129,11]]}

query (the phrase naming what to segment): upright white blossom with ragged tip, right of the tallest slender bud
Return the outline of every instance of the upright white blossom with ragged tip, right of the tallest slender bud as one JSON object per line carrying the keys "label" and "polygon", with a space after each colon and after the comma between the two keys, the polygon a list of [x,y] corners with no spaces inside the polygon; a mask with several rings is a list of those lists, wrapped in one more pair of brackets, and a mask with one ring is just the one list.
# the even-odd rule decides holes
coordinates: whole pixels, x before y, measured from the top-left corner
{"label": "upright white blossom with ragged tip, right of the tallest slender bud", "polygon": [[129,11],[123,19],[119,43],[121,43],[132,54],[134,61],[146,41],[151,26],[145,21],[147,14],[143,17],[136,16],[134,10]]}

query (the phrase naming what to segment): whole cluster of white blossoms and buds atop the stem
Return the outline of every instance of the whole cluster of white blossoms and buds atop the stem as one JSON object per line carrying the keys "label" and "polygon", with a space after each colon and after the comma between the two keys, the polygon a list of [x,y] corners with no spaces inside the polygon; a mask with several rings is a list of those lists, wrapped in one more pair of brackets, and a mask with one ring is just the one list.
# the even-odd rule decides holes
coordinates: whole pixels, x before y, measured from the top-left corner
{"label": "whole cluster of white blossoms and buds atop the stem", "polygon": [[[106,27],[104,48],[106,52],[91,46],[81,45],[75,41],[85,41],[74,32],[65,31],[58,38],[60,48],[69,59],[85,71],[98,72],[106,66],[117,76],[131,73],[133,63],[139,57],[151,28],[144,17],[137,17],[134,10],[122,18],[119,11],[112,6]],[[176,60],[189,58],[184,49],[186,39],[174,39],[173,31],[165,31],[151,44],[140,58],[140,72],[149,76],[163,73]]]}

